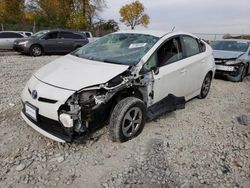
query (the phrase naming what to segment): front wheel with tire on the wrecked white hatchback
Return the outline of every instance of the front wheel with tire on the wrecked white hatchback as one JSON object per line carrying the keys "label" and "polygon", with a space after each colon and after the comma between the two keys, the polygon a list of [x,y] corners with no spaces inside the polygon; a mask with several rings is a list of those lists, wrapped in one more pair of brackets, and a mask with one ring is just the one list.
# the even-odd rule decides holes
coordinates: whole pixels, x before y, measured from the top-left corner
{"label": "front wheel with tire on the wrecked white hatchback", "polygon": [[138,98],[127,97],[115,106],[109,124],[112,141],[126,142],[138,136],[146,122],[146,106]]}

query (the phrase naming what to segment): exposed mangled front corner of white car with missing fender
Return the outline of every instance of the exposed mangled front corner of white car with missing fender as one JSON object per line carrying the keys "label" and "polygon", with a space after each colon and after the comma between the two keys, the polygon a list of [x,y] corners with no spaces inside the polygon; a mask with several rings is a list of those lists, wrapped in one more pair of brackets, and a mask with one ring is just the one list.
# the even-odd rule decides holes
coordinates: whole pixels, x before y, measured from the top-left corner
{"label": "exposed mangled front corner of white car with missing fender", "polygon": [[103,125],[115,104],[127,96],[136,96],[146,105],[150,104],[152,73],[139,75],[136,72],[136,67],[130,67],[107,83],[81,89],[70,96],[58,110],[58,119],[68,136],[75,139]]}

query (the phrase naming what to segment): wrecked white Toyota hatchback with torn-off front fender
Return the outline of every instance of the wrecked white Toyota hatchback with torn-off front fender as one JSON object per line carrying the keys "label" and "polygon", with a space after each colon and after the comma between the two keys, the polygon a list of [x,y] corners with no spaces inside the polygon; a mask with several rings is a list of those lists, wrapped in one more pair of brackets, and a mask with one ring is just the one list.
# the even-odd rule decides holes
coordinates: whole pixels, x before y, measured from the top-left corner
{"label": "wrecked white Toyota hatchback with torn-off front fender", "polygon": [[137,136],[145,121],[208,95],[211,47],[187,33],[109,34],[38,70],[22,92],[23,119],[71,142],[109,122],[113,141]]}

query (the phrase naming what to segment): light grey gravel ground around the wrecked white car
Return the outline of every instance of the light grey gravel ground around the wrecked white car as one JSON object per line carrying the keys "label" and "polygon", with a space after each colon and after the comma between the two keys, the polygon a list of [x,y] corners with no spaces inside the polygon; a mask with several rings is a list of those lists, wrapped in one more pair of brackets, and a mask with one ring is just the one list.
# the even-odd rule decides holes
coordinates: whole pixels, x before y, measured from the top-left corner
{"label": "light grey gravel ground around the wrecked white car", "polygon": [[129,142],[111,142],[104,127],[60,144],[20,117],[26,81],[56,58],[0,52],[0,187],[250,187],[250,76],[215,79],[206,99],[147,123]]}

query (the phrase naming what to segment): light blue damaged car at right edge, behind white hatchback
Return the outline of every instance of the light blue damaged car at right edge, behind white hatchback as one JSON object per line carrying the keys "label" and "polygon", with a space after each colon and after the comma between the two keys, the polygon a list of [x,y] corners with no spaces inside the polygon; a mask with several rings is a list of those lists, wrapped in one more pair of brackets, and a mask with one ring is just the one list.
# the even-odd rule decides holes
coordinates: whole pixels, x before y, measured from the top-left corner
{"label": "light blue damaged car at right edge, behind white hatchback", "polygon": [[216,74],[234,82],[250,74],[250,40],[225,39],[212,44]]}

